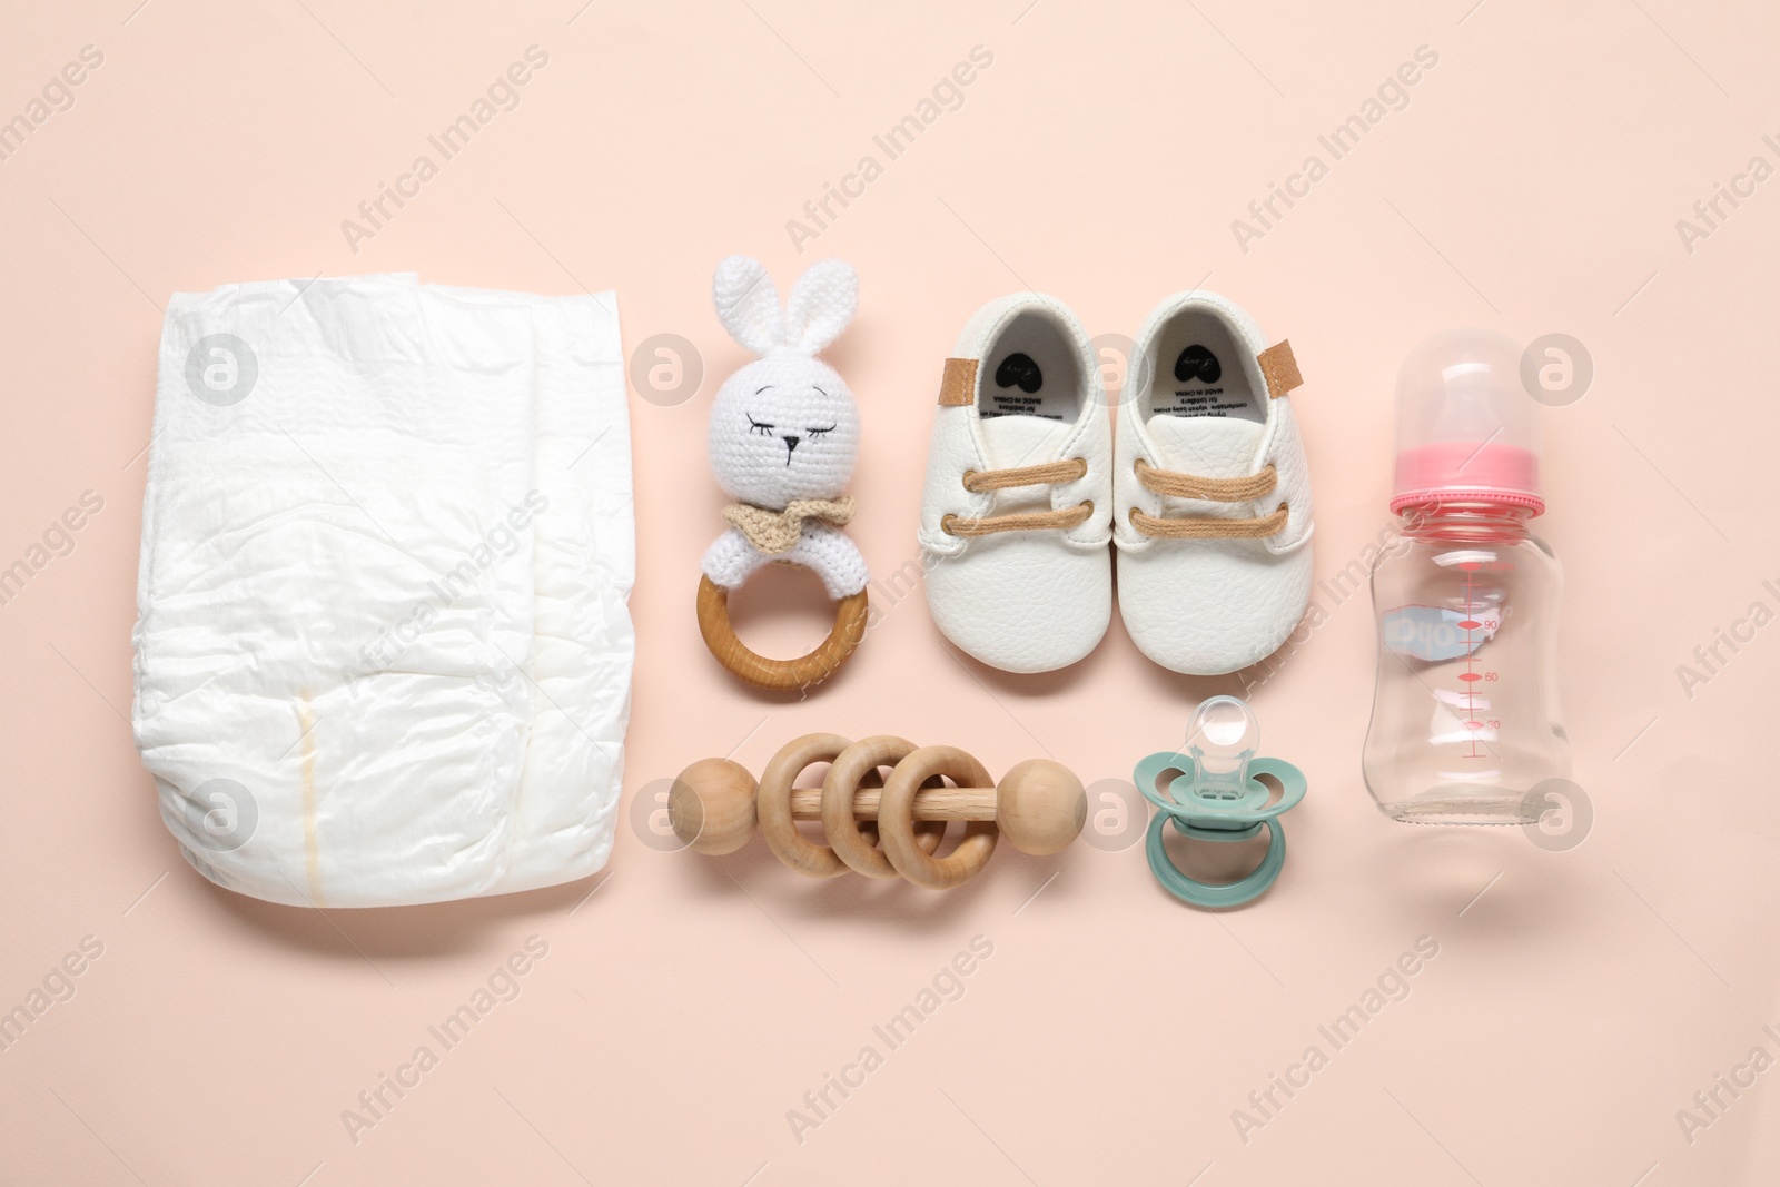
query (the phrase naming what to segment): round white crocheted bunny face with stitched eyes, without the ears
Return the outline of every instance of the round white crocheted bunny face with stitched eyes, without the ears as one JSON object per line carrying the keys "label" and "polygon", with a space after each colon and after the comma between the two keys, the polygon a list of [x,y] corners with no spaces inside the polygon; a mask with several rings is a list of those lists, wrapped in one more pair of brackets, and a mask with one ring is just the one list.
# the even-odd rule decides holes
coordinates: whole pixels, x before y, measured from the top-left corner
{"label": "round white crocheted bunny face with stitched eyes, without the ears", "polygon": [[710,406],[710,470],[730,498],[783,509],[838,498],[860,454],[860,415],[833,367],[792,351],[749,363]]}

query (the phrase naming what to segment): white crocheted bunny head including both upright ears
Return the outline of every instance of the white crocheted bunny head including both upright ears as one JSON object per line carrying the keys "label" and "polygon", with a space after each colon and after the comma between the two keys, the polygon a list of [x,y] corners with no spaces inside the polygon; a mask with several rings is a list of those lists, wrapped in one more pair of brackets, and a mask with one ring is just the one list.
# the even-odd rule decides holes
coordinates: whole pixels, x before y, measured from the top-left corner
{"label": "white crocheted bunny head including both upright ears", "polygon": [[858,306],[858,276],[838,260],[810,265],[787,308],[765,267],[748,256],[717,265],[717,317],[760,354],[710,406],[710,468],[739,502],[780,511],[794,498],[837,498],[860,452],[853,393],[815,358]]}

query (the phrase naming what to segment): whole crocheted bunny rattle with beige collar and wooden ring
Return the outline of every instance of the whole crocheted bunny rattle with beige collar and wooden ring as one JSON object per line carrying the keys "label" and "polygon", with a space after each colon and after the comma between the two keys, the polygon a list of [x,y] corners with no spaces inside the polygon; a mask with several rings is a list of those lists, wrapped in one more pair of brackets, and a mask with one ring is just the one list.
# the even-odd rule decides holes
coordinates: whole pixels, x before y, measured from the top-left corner
{"label": "whole crocheted bunny rattle with beige collar and wooden ring", "polygon": [[[835,673],[865,634],[865,559],[840,530],[853,518],[844,495],[860,452],[860,415],[835,368],[815,358],[860,299],[853,265],[810,265],[780,310],[758,260],[730,256],[712,285],[717,317],[760,358],[717,390],[710,406],[710,470],[730,529],[705,552],[698,628],[726,669],[767,689],[801,689]],[[835,600],[835,628],[808,655],[773,660],[749,651],[730,626],[728,596],[765,564],[801,564]]]}

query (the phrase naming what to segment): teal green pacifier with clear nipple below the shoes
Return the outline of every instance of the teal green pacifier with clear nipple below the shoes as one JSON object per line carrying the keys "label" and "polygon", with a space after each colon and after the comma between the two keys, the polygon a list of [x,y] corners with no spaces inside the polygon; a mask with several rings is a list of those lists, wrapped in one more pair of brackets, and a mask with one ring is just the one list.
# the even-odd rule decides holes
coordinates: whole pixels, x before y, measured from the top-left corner
{"label": "teal green pacifier with clear nipple below the shoes", "polygon": [[[1234,908],[1260,897],[1285,865],[1280,817],[1305,797],[1305,774],[1280,758],[1257,758],[1260,724],[1235,696],[1214,696],[1193,710],[1184,751],[1162,751],[1137,763],[1137,790],[1161,808],[1150,820],[1145,852],[1168,893],[1198,908]],[[1274,790],[1260,781],[1271,778]],[[1162,829],[1205,842],[1242,842],[1269,833],[1267,854],[1246,877],[1202,883],[1187,877],[1162,847]]]}

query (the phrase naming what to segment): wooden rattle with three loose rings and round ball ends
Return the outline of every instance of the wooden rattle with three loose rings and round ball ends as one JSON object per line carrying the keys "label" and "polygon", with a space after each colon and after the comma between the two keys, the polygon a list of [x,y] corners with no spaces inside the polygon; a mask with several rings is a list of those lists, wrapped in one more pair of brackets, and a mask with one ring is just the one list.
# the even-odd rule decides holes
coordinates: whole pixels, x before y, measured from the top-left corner
{"label": "wooden rattle with three loose rings and round ball ends", "polygon": [[[824,758],[829,771],[821,788],[790,785]],[[862,787],[885,762],[895,762],[885,785]],[[934,776],[958,787],[924,787]],[[1000,835],[1036,856],[1061,852],[1080,835],[1088,792],[1068,767],[1029,758],[999,785],[990,783],[983,763],[951,746],[910,749],[888,735],[849,744],[833,733],[808,733],[783,746],[758,783],[728,758],[692,763],[668,794],[668,819],[675,835],[698,852],[735,852],[758,824],[774,856],[801,874],[833,877],[846,867],[883,876],[883,860],[892,872],[929,890],[947,890],[977,874]],[[838,824],[842,806],[846,826]],[[808,842],[796,820],[822,820],[833,849]],[[858,820],[878,822],[881,849],[865,845]],[[917,822],[938,820],[967,822],[965,838],[943,858],[933,856],[943,829],[917,829]]]}

